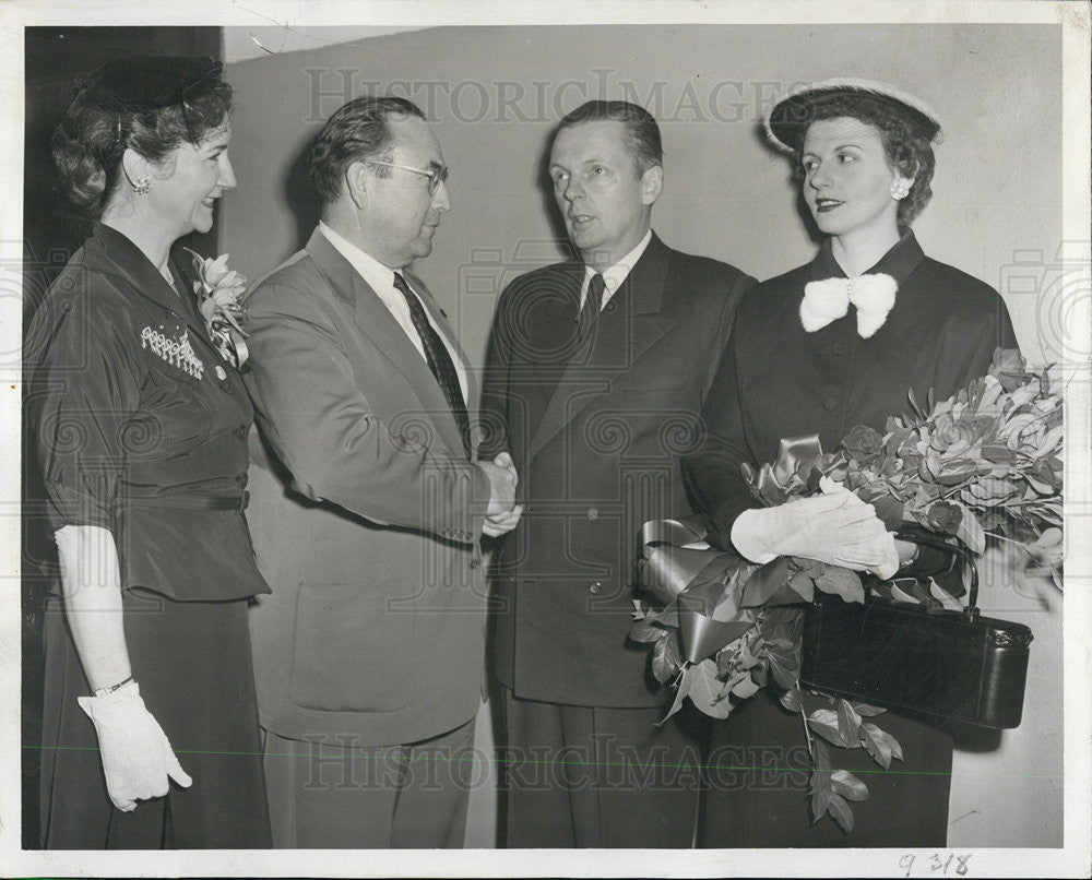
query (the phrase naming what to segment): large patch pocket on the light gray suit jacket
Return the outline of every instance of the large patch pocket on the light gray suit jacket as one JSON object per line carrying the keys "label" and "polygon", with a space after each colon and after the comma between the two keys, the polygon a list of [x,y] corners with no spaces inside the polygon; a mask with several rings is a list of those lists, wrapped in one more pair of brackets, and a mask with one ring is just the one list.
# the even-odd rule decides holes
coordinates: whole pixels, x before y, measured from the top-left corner
{"label": "large patch pocket on the light gray suit jacket", "polygon": [[304,583],[288,693],[302,709],[394,712],[413,699],[413,616],[392,614],[382,584]]}

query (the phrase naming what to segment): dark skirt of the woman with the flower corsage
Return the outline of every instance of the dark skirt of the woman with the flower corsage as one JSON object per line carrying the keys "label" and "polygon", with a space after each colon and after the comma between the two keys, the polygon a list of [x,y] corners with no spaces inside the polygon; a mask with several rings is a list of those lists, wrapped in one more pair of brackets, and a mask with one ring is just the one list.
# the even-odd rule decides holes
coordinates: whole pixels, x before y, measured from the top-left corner
{"label": "dark skirt of the woman with the flower corsage", "polygon": [[48,849],[269,847],[248,600],[173,602],[123,593],[133,677],[189,788],[109,800],[94,725],[76,703],[86,678],[59,599],[46,605],[41,842]]}

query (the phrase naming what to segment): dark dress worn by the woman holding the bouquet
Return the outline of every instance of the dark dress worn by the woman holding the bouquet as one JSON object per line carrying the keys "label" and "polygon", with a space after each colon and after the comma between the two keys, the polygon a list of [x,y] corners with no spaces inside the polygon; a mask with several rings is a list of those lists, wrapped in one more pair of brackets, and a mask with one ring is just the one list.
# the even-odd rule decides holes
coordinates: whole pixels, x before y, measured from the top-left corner
{"label": "dark dress worn by the woman holding the bouquet", "polygon": [[[829,241],[811,263],[760,284],[740,304],[708,399],[708,441],[685,462],[721,546],[731,547],[736,516],[759,506],[739,475],[741,462],[772,461],[784,437],[818,432],[829,451],[856,425],[882,432],[889,415],[910,411],[909,389],[923,403],[930,389],[943,400],[985,374],[997,346],[1016,347],[998,294],[925,257],[912,233],[868,272],[891,275],[899,290],[887,322],[867,340],[857,335],[852,306],[815,333],[800,324],[805,285],[845,277]],[[831,747],[834,766],[862,771],[869,789],[867,801],[852,805],[847,835],[827,817],[811,824],[802,720],[772,694],[756,694],[715,725],[701,844],[943,846],[951,737],[894,712],[875,721],[899,740],[905,760],[885,773],[863,749]]]}

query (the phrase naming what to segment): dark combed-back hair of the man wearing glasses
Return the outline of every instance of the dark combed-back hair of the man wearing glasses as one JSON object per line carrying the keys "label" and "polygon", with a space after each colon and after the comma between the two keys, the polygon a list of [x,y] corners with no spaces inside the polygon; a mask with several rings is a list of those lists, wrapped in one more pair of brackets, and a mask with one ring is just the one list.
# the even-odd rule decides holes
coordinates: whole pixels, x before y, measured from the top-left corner
{"label": "dark combed-back hair of the man wearing glasses", "polygon": [[[392,116],[425,118],[420,108],[405,98],[365,96],[334,110],[311,145],[307,166],[323,204],[341,197],[345,173],[354,162],[387,158],[394,146]],[[380,167],[376,174],[385,177],[389,169]]]}

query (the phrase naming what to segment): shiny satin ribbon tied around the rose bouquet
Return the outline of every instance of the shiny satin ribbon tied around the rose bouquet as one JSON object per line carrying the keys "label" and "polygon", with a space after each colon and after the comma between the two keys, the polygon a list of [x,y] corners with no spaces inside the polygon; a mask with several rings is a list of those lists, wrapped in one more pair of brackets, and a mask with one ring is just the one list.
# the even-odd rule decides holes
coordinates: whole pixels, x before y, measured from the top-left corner
{"label": "shiny satin ribbon tied around the rose bouquet", "polygon": [[[806,475],[822,455],[818,435],[781,441],[778,459],[747,479],[763,498],[787,498],[786,486]],[[773,503],[780,503],[774,501]],[[678,604],[682,652],[701,663],[755,626],[756,609],[795,605],[803,599],[788,587],[790,560],[756,566],[740,556],[711,547],[700,515],[650,520],[641,526],[641,585],[664,605]]]}

